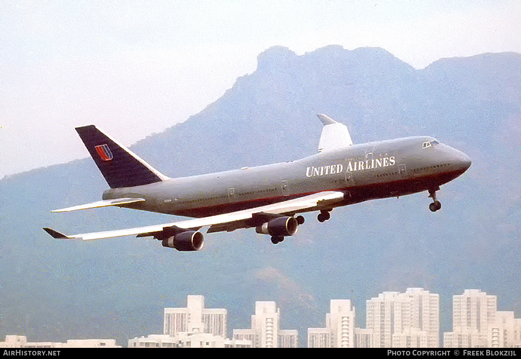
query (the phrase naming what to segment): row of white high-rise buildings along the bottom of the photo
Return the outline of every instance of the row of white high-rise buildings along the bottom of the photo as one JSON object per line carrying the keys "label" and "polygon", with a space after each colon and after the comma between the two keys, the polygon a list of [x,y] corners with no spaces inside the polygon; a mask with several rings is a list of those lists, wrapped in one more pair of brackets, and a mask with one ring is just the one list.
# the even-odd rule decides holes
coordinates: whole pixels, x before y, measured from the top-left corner
{"label": "row of white high-rise buildings along the bottom of the photo", "polygon": [[[497,310],[498,298],[467,289],[453,295],[453,331],[440,332],[439,295],[423,288],[383,292],[367,300],[366,328],[355,327],[350,300],[330,300],[325,328],[307,329],[307,348],[521,348],[521,318]],[[297,348],[299,333],[280,328],[276,302],[255,302],[251,329],[233,329],[228,339],[226,308],[205,308],[204,296],[188,295],[187,307],[164,309],[163,334],[128,340],[129,348]],[[439,342],[442,334],[441,342]],[[301,340],[304,333],[301,333]],[[27,342],[6,335],[0,348],[115,347],[114,339]],[[24,346],[25,345],[25,346]],[[302,346],[302,345],[301,345]]]}

